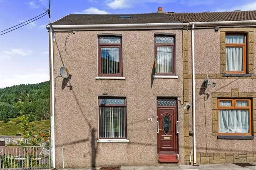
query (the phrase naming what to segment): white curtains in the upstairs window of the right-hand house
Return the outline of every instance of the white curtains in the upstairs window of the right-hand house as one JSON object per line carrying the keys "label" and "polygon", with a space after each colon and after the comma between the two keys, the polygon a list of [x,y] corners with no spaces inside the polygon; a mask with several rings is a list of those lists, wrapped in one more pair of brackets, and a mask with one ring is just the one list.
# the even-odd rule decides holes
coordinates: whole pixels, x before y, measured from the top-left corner
{"label": "white curtains in the upstairs window of the right-hand house", "polygon": [[[244,36],[226,36],[226,43],[243,44]],[[243,71],[243,47],[226,47],[226,71]]]}

